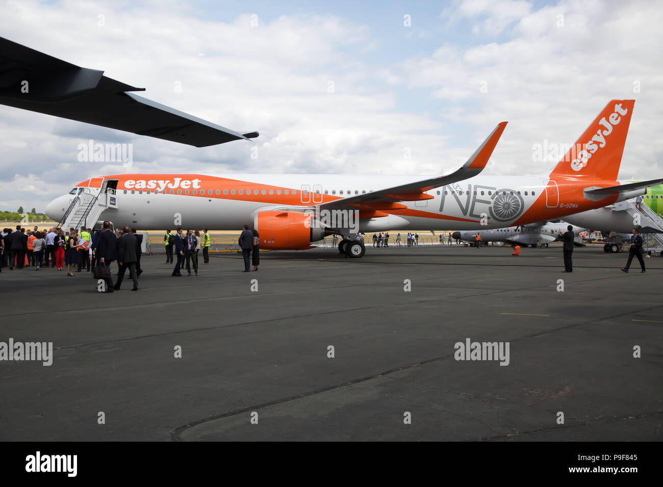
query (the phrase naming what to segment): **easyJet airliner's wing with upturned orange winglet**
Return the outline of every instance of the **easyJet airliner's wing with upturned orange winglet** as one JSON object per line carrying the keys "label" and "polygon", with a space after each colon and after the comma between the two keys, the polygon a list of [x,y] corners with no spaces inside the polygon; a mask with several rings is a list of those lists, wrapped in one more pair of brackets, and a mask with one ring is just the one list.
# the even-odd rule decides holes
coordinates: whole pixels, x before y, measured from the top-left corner
{"label": "easyJet airliner's wing with upturned orange winglet", "polygon": [[488,163],[505,127],[507,127],[507,122],[499,123],[467,162],[465,162],[461,168],[446,176],[436,176],[434,178],[428,178],[414,183],[404,184],[402,186],[394,186],[392,188],[381,189],[380,191],[372,191],[371,193],[328,201],[328,203],[321,203],[320,208],[395,211],[406,207],[405,205],[396,203],[396,201],[433,199],[431,195],[427,195],[424,191],[440,188],[440,186],[446,186],[477,176]]}

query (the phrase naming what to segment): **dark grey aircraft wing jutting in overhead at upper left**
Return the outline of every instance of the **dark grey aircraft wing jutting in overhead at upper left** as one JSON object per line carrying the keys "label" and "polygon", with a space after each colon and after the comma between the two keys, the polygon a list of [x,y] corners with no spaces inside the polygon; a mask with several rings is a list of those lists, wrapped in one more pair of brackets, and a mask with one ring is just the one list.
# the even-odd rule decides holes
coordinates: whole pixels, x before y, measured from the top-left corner
{"label": "dark grey aircraft wing jutting in overhead at upper left", "polygon": [[140,97],[145,91],[0,37],[0,103],[196,147],[249,140],[238,133]]}

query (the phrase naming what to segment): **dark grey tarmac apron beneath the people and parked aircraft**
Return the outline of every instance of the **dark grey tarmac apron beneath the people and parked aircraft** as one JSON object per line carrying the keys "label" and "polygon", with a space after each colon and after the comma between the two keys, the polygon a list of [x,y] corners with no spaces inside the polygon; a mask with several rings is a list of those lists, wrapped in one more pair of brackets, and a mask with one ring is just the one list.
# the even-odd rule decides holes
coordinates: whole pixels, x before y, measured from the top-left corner
{"label": "dark grey tarmac apron beneath the people and parked aircraft", "polygon": [[[578,248],[564,274],[553,246],[369,246],[263,252],[250,274],[210,254],[172,277],[156,255],[113,294],[5,268],[0,341],[54,356],[0,362],[0,439],[661,440],[663,258],[626,258]],[[509,365],[455,360],[467,338],[509,342]]]}

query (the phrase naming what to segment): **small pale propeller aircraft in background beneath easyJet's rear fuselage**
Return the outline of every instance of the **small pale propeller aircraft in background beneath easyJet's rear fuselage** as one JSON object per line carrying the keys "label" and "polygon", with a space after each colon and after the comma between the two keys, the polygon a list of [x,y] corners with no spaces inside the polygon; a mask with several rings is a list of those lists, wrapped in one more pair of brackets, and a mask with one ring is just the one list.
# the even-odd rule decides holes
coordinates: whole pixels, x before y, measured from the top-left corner
{"label": "small pale propeller aircraft in background beneath easyJet's rear fuselage", "polygon": [[[566,221],[557,223],[532,223],[530,225],[518,225],[516,227],[506,227],[503,229],[488,229],[479,231],[461,231],[453,232],[452,238],[469,243],[476,243],[477,233],[481,237],[481,243],[486,242],[506,242],[522,246],[548,246],[549,243],[557,241],[559,232],[566,232],[569,224]],[[580,232],[587,229],[573,227],[573,234],[577,237]],[[577,245],[583,245],[579,242]]]}

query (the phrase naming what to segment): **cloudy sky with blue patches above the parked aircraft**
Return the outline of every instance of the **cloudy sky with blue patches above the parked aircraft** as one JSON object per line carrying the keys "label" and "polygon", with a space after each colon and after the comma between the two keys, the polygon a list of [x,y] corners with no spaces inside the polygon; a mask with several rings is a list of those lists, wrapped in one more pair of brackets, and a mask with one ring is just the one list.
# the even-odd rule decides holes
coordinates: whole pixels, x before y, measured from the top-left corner
{"label": "cloudy sky with blue patches above the parked aircraft", "polygon": [[[280,5],[277,5],[280,4]],[[663,6],[652,1],[0,0],[1,36],[145,87],[255,142],[182,146],[0,105],[0,210],[129,172],[440,174],[509,121],[487,174],[541,174],[611,99],[636,100],[621,178],[663,176]],[[257,158],[251,158],[251,148]]]}

